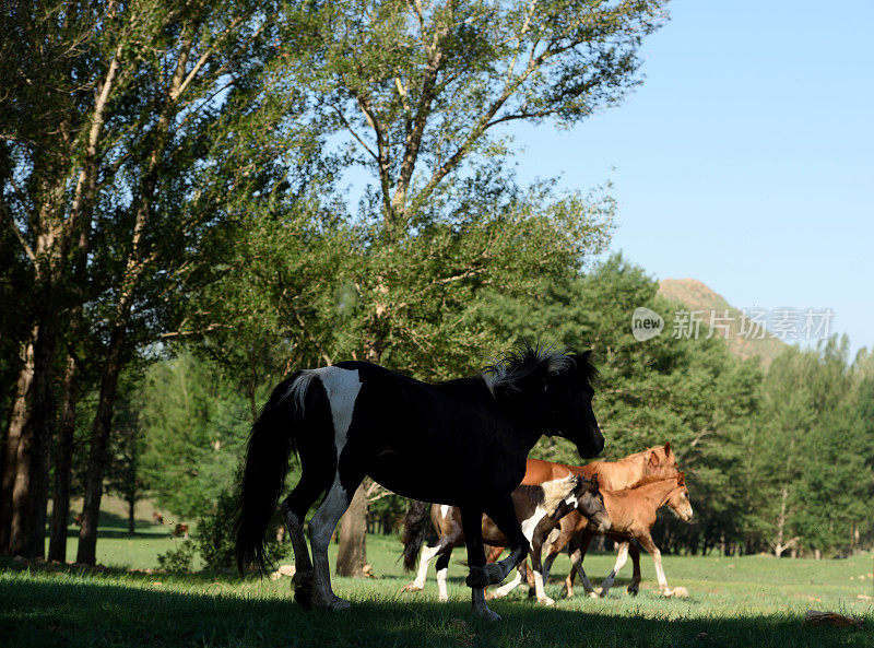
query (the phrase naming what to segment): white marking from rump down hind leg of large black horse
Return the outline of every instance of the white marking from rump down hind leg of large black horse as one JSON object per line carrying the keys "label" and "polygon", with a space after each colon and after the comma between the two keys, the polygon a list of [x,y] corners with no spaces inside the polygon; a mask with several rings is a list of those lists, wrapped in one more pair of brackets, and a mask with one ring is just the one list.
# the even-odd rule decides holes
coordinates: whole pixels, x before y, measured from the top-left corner
{"label": "white marking from rump down hind leg of large black horse", "polygon": [[340,455],[346,447],[346,437],[350,425],[352,425],[352,414],[355,408],[355,399],[358,397],[362,384],[358,379],[358,372],[341,369],[340,367],[322,367],[314,369],[321,379],[324,391],[328,394],[328,402],[331,404],[331,417],[334,424],[334,446],[336,447],[338,468],[334,473],[334,482],[328,491],[316,515],[309,523],[309,543],[312,546],[314,573],[314,597],[315,604],[321,604],[333,609],[349,608],[349,603],[338,598],[331,589],[331,569],[328,564],[328,545],[331,534],[336,527],[336,522],[349,508],[352,499],[350,494],[343,488],[340,481]]}

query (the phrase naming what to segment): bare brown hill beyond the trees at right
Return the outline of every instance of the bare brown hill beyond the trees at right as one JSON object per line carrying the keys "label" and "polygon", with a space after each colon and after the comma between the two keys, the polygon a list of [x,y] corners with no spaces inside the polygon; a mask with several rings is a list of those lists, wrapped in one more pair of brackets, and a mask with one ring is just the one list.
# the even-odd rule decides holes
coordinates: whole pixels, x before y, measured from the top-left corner
{"label": "bare brown hill beyond the trees at right", "polygon": [[[729,317],[732,318],[728,340],[729,349],[742,360],[758,355],[763,366],[767,367],[786,349],[786,343],[770,333],[766,333],[765,338],[760,340],[752,337],[742,338],[740,335],[741,311],[725,302],[722,295],[714,293],[697,279],[663,279],[659,282],[659,296],[683,304],[689,310],[704,310],[705,315],[701,316],[701,334],[704,335],[709,330],[710,311],[716,310],[717,317],[722,317],[728,310]],[[665,322],[665,327],[670,326],[671,322]],[[724,333],[717,331],[716,334]]]}

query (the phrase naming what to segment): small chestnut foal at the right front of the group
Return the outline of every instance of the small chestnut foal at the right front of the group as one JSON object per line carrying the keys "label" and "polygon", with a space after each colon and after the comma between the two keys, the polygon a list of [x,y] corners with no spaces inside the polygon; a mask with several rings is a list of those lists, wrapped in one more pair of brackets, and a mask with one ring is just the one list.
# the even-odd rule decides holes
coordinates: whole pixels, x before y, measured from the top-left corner
{"label": "small chestnut foal at the right front of the group", "polygon": [[544,561],[544,574],[548,576],[555,556],[567,544],[570,553],[571,572],[565,585],[567,596],[574,596],[574,576],[580,575],[582,587],[590,597],[598,594],[589,582],[586,572],[582,568],[582,561],[589,543],[595,535],[606,535],[614,542],[619,543],[618,555],[613,570],[601,584],[601,597],[610,593],[616,574],[625,566],[628,553],[631,553],[634,562],[634,576],[628,586],[628,592],[636,594],[640,588],[640,552],[634,540],[637,540],[647,550],[656,564],[656,577],[659,580],[659,590],[662,594],[670,597],[671,588],[668,587],[668,579],[662,568],[662,555],[659,547],[652,541],[652,526],[656,523],[658,510],[665,504],[682,520],[688,521],[692,518],[692,503],[689,502],[689,491],[686,486],[685,473],[681,472],[675,478],[658,480],[645,483],[636,488],[625,488],[623,491],[605,491],[604,506],[610,514],[613,522],[606,533],[599,533],[589,528],[584,521],[574,520],[574,515],[566,516],[559,526],[558,537],[553,539],[547,550],[547,557]]}

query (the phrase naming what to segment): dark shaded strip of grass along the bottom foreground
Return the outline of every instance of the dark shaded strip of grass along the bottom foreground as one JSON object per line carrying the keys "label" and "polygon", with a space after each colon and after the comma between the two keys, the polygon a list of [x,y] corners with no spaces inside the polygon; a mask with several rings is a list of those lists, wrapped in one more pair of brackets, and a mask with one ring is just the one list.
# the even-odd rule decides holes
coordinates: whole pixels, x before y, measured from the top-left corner
{"label": "dark shaded strip of grass along the bottom foreground", "polygon": [[[151,577],[156,578],[156,577]],[[188,580],[176,580],[175,587]],[[118,582],[0,570],[0,641],[47,646],[871,646],[870,629],[803,627],[792,615],[734,617],[637,616],[493,602],[504,621],[472,618],[468,604],[368,599],[349,612],[305,612],[291,599],[259,598],[252,587],[225,580],[209,589],[161,591]],[[871,624],[872,618],[869,618]]]}

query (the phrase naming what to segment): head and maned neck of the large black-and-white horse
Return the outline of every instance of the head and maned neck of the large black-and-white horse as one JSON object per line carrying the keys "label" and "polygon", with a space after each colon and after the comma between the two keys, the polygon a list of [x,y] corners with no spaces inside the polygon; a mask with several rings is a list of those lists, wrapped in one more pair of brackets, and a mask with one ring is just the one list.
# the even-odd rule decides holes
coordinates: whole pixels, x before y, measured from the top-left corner
{"label": "head and maned neck of the large black-and-white horse", "polygon": [[525,345],[487,367],[486,385],[528,424],[574,441],[580,456],[589,459],[604,449],[592,411],[591,381],[598,372],[590,355],[590,351],[566,355]]}

